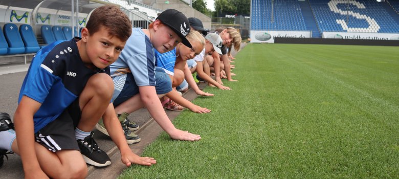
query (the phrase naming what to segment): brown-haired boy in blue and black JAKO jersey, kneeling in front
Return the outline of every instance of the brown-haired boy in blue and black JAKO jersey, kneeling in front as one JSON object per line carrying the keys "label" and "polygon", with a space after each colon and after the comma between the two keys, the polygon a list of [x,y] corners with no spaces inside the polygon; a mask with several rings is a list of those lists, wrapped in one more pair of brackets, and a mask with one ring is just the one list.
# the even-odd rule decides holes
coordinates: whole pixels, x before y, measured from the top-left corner
{"label": "brown-haired boy in blue and black JAKO jersey, kneeling in front", "polygon": [[86,163],[109,165],[91,133],[101,116],[125,165],[156,163],[130,150],[110,103],[108,65],[130,34],[128,17],[119,7],[107,5],[92,12],[81,39],[56,41],[37,52],[21,87],[15,131],[9,118],[0,121],[0,154],[18,153],[25,177],[84,178]]}

